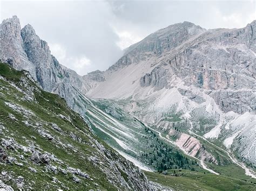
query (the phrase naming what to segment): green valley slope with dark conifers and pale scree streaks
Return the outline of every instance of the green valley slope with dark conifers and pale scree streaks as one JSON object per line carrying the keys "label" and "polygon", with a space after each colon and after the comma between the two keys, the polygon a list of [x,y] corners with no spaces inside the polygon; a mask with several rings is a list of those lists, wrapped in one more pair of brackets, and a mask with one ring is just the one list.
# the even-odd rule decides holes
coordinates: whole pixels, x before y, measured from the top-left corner
{"label": "green valley slope with dark conifers and pale scree streaks", "polygon": [[[183,168],[192,171],[203,170],[196,160],[186,156],[180,152],[178,148],[173,147],[173,145],[165,143],[164,140],[159,138],[159,135],[156,134],[156,132],[147,128],[145,124],[138,119],[127,115],[116,103],[114,103],[114,101],[94,100],[92,102],[97,108],[106,111],[111,117],[121,119],[118,122],[122,124],[118,125],[113,122],[111,118],[107,120],[107,116],[102,117],[102,115],[105,114],[98,115],[95,108],[87,105],[88,112],[86,116],[90,118],[92,129],[100,138],[117,150],[131,155],[138,161],[143,162],[143,164],[158,172],[170,168]],[[172,117],[175,117],[175,120],[177,121],[179,115],[172,115]],[[95,124],[97,124],[98,128],[96,128]],[[107,128],[108,125],[109,127]],[[121,133],[117,130],[120,130]],[[126,139],[126,133],[130,133],[136,139],[130,137],[127,137]],[[125,149],[120,146],[113,137],[118,138],[123,143],[129,145],[130,149]]]}

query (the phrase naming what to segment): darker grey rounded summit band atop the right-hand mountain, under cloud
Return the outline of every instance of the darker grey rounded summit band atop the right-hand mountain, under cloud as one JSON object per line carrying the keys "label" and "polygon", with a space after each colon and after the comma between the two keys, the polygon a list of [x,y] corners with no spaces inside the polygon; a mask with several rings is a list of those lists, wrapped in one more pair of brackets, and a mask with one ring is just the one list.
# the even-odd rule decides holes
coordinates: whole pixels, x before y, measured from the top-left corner
{"label": "darker grey rounded summit band atop the right-hand mountain, under cloud", "polygon": [[167,26],[127,48],[124,56],[111,66],[109,70],[117,70],[120,67],[134,62],[138,63],[152,56],[163,56],[163,53],[170,52],[173,48],[180,46],[188,39],[205,31],[206,29],[186,21]]}

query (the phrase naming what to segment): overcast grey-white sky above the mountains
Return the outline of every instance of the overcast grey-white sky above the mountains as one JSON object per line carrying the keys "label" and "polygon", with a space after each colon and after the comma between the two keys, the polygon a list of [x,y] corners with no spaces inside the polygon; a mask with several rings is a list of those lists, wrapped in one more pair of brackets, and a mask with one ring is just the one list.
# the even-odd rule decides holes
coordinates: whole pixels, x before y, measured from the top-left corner
{"label": "overcast grey-white sky above the mountains", "polygon": [[51,54],[80,75],[106,70],[150,33],[184,21],[205,29],[240,28],[256,19],[251,1],[0,0],[0,20],[18,16]]}

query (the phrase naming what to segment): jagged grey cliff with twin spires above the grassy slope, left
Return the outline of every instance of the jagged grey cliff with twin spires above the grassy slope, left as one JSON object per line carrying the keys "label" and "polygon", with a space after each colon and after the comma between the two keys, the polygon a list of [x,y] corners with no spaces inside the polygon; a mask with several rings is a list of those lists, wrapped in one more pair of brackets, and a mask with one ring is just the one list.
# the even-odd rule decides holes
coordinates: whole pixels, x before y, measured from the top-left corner
{"label": "jagged grey cliff with twin spires above the grassy slope, left", "polygon": [[27,70],[45,91],[59,94],[75,111],[86,110],[77,92],[85,93],[89,88],[87,83],[75,71],[59,64],[48,44],[37,36],[31,25],[21,29],[16,16],[6,19],[0,25],[0,38],[3,62],[17,70]]}

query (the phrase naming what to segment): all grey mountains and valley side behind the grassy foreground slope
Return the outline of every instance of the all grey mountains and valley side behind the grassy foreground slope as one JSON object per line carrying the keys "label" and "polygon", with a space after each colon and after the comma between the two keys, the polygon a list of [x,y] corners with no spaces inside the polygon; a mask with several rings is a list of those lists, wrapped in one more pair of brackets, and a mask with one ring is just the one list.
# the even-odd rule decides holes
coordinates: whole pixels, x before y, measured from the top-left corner
{"label": "all grey mountains and valley side behind the grassy foreground slope", "polygon": [[0,25],[0,59],[63,97],[98,137],[142,169],[250,180],[256,165],[255,23],[214,30],[170,25],[127,48],[106,71],[79,76],[14,16]]}

